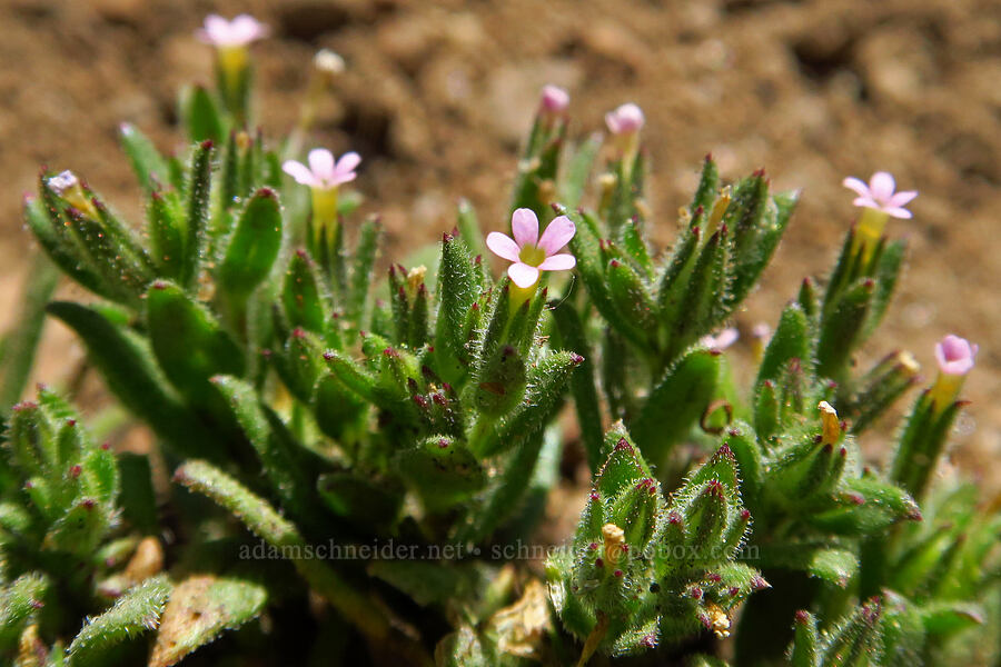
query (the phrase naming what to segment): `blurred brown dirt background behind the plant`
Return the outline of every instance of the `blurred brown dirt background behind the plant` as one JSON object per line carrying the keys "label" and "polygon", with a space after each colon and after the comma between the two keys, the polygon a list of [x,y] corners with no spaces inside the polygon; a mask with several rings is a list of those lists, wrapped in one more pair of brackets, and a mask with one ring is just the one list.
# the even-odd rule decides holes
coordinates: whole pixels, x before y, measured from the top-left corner
{"label": "blurred brown dirt background behind the plant", "polygon": [[[450,228],[459,196],[485,227],[504,226],[547,82],[571,91],[581,136],[614,106],[643,107],[662,246],[708,151],[730,178],[765,167],[779,188],[803,189],[744,331],[774,322],[802,276],[829,267],[854,216],[842,178],[892,171],[921,196],[914,220],[891,223],[911,241],[910,269],[869,354],[905,346],[931,377],[942,335],[979,342],[954,450],[1001,486],[998,0],[0,0],[0,325],[17,315],[33,247],[20,200],[38,166],[71,167],[139,221],[117,126],[178,146],[176,91],[210,81],[192,31],[212,11],[272,27],[254,48],[272,137],[296,121],[313,53],[345,57],[316,140],[364,156],[357,186],[378,202],[395,258]],[[36,376],[65,381],[81,356],[52,322]]]}

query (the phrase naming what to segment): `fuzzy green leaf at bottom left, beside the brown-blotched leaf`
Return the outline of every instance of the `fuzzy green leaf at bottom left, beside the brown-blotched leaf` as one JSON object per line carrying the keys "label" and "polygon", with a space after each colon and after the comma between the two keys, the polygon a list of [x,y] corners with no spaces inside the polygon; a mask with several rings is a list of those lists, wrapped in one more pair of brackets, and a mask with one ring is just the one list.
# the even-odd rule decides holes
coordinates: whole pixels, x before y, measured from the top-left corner
{"label": "fuzzy green leaf at bottom left, beside the brown-blotched leaf", "polygon": [[67,649],[70,664],[80,667],[97,661],[108,648],[155,629],[170,589],[167,576],[160,575],[128,590],[113,607],[91,618],[80,629]]}

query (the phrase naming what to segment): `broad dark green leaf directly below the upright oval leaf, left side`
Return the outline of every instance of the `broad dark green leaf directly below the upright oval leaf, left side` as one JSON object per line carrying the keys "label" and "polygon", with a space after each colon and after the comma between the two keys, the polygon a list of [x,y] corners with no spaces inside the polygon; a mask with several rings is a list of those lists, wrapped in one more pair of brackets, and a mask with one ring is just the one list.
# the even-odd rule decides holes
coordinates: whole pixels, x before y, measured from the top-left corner
{"label": "broad dark green leaf directly below the upright oval leaf, left side", "polygon": [[160,368],[191,400],[205,400],[212,376],[244,374],[242,350],[212,315],[177,285],[155,282],[146,307],[149,338]]}

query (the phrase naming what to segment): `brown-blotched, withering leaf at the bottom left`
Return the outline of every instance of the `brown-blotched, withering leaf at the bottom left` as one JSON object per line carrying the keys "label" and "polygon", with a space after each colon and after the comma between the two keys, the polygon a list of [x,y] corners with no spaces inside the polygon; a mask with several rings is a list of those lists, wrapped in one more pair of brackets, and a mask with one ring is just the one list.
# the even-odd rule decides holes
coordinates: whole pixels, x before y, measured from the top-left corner
{"label": "brown-blotched, withering leaf at the bottom left", "polygon": [[185,579],[170,594],[149,667],[171,667],[197,648],[257,617],[267,589],[251,581],[210,575]]}

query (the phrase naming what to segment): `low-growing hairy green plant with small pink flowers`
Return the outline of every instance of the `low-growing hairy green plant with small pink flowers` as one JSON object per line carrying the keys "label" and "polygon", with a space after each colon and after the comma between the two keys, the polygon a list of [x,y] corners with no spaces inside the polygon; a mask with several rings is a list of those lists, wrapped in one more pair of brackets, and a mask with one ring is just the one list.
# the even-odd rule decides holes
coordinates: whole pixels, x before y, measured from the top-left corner
{"label": "low-growing hairy green plant with small pink flowers", "polygon": [[[573,142],[569,98],[546,87],[512,235],[484,238],[462,202],[435,252],[379,279],[381,227],[355,220],[345,187],[361,157],[297,161],[344,63],[317,56],[303,122],[271,143],[247,129],[265,33],[207,19],[217,88],[182,91],[180,153],[122,126],[145,228],[71,171],[43,169],[26,200],[49,260],[98,300],[50,301],[40,263],[3,395],[23,389],[44,308],[156,442],[98,446],[50,389],[9,412],[6,660],[998,660],[1001,518],[935,475],[977,347],[943,339],[889,460],[858,444],[919,382],[908,352],[856,367],[903,262],[885,223],[916,192],[845,180],[862,215],[774,334],[756,328],[744,387],[721,328],[797,193],[764,171],[725,183],[707,157],[673,247],[655,248],[640,108],[606,117],[607,147]],[[502,278],[486,250],[511,262]],[[519,558],[506,547],[534,544],[581,457],[574,535]]]}

